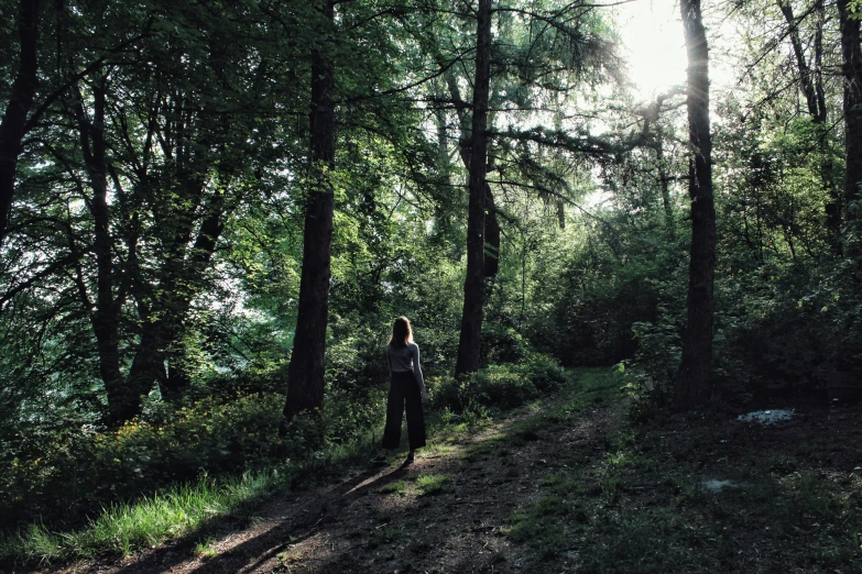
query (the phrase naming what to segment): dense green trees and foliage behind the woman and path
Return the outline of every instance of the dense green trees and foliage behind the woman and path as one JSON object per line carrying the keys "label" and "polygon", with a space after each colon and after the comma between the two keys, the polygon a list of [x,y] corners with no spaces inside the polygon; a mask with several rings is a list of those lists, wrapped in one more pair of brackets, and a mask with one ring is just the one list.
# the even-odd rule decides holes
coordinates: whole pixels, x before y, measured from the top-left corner
{"label": "dense green trees and foliage behind the woman and path", "polygon": [[443,427],[862,398],[859,8],[680,0],[643,100],[610,3],[0,0],[2,560],[364,452],[401,314]]}

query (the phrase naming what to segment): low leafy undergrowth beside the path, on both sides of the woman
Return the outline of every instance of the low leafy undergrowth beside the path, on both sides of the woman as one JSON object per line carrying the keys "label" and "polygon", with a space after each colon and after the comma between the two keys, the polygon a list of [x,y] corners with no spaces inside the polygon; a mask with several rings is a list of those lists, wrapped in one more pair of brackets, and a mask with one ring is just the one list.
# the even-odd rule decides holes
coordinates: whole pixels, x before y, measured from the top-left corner
{"label": "low leafy undergrowth beside the path, on both sides of the woman", "polygon": [[[149,499],[205,475],[238,477],[285,461],[324,464],[321,453],[336,452],[383,422],[385,361],[377,344],[364,353],[354,352],[351,362],[348,350],[334,345],[324,409],[297,416],[283,438],[284,395],[257,391],[185,406],[154,394],[143,415],[119,429],[45,430],[37,450],[15,450],[3,441],[0,462],[8,471],[0,475],[0,530],[43,522],[51,531],[74,529],[110,505]],[[565,378],[554,360],[530,355],[525,363],[491,365],[460,380],[433,374],[426,380],[435,409],[470,421],[533,400]]]}

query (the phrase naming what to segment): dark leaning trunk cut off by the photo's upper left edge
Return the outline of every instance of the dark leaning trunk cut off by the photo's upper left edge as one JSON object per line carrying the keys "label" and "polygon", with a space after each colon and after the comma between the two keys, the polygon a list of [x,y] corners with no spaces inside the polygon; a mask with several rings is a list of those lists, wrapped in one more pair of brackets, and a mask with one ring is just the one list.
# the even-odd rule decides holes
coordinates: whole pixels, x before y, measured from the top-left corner
{"label": "dark leaning trunk cut off by the photo's upper left edge", "polygon": [[6,238],[9,213],[15,187],[15,168],[21,141],[26,132],[26,118],[33,107],[39,77],[36,45],[39,43],[39,0],[21,0],[18,20],[21,55],[18,74],[12,82],[9,104],[0,123],[0,244]]}

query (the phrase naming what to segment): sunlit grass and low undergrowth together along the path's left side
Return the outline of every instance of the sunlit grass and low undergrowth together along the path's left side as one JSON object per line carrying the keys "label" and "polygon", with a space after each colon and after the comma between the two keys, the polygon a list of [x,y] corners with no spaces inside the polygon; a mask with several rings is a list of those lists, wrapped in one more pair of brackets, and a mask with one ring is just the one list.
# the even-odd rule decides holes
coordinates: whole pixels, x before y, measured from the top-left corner
{"label": "sunlit grass and low undergrowth together along the path's left side", "polygon": [[[429,433],[466,429],[556,389],[565,380],[563,369],[542,356],[522,365],[491,366],[467,382],[440,377],[429,385],[436,395],[427,417]],[[354,423],[352,432],[347,432],[343,429],[351,426],[346,417],[352,415],[338,405],[330,408],[335,415],[329,418],[336,420],[328,420],[327,415],[301,417],[281,443],[282,456],[287,455],[281,461],[274,454],[280,445],[274,415],[282,402],[279,395],[222,404],[204,400],[176,412],[157,413],[154,421],[134,421],[117,431],[96,433],[85,450],[92,467],[88,474],[74,475],[79,477],[74,486],[84,487],[86,496],[79,492],[73,504],[92,506],[107,499],[107,507],[73,528],[34,520],[0,536],[0,562],[57,563],[130,555],[167,541],[199,540],[220,520],[241,518],[244,509],[279,489],[319,481],[337,474],[347,463],[363,461],[375,448],[383,424],[382,389],[372,390],[375,398],[365,398],[363,408],[377,408],[379,416],[374,419],[363,411],[362,417],[373,420],[373,426]],[[341,432],[334,433],[332,428]],[[58,450],[56,461],[41,464],[56,464],[59,470],[84,466],[85,461],[76,460],[75,452],[80,451]],[[239,461],[231,459],[238,453]],[[171,484],[172,477],[182,479],[195,464],[212,472]],[[242,468],[252,470],[236,474]],[[33,479],[31,492],[41,487],[61,496],[65,484],[61,483],[68,478],[57,468],[42,475],[37,471],[37,464],[19,468],[12,479],[22,482],[29,476]],[[51,482],[54,477],[59,482]],[[160,484],[164,486],[152,488]],[[112,485],[123,488],[128,499],[111,496]],[[447,492],[449,478],[427,476],[414,487],[422,496],[435,496]],[[25,495],[20,497],[20,503],[26,504]]]}

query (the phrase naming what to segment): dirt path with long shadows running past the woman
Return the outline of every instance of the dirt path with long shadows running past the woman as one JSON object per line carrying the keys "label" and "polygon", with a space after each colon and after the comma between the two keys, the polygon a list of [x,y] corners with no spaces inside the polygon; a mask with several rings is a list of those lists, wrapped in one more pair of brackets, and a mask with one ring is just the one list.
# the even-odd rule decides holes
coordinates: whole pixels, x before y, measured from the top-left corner
{"label": "dirt path with long shadows running past the woman", "polygon": [[504,534],[510,517],[575,451],[587,459],[600,452],[597,439],[620,417],[619,406],[598,407],[530,424],[559,400],[444,439],[419,451],[412,466],[357,468],[340,484],[276,497],[252,527],[207,544],[63,572],[525,572],[523,547]]}

